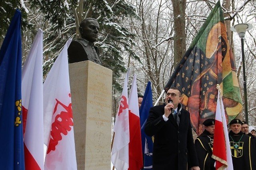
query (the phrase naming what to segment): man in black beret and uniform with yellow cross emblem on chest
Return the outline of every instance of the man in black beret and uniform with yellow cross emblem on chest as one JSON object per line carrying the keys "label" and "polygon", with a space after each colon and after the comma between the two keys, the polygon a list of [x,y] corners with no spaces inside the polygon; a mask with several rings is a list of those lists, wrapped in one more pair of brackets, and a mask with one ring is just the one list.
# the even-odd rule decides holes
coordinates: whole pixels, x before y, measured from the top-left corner
{"label": "man in black beret and uniform with yellow cross emblem on chest", "polygon": [[241,131],[240,119],[229,123],[230,149],[234,170],[255,170],[256,150],[252,138]]}

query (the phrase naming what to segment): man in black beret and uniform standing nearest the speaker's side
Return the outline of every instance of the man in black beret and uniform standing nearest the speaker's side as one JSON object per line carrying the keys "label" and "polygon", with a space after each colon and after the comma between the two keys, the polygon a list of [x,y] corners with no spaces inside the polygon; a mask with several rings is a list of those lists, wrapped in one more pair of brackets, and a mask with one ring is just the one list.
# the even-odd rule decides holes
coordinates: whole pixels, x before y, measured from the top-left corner
{"label": "man in black beret and uniform standing nearest the speaker's side", "polygon": [[203,125],[204,132],[195,141],[199,167],[200,170],[215,170],[212,158],[215,119],[206,119]]}

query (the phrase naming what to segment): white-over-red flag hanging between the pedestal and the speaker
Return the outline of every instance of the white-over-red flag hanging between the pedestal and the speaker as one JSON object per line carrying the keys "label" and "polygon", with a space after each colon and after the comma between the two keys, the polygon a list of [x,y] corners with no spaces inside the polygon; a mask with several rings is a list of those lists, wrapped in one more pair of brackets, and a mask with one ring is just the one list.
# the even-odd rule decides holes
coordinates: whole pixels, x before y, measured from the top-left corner
{"label": "white-over-red flag hanging between the pedestal and the speaker", "polygon": [[132,88],[129,96],[129,168],[128,170],[140,170],[143,168],[142,143],[140,134],[140,113],[138,106],[138,92],[136,74],[134,74]]}

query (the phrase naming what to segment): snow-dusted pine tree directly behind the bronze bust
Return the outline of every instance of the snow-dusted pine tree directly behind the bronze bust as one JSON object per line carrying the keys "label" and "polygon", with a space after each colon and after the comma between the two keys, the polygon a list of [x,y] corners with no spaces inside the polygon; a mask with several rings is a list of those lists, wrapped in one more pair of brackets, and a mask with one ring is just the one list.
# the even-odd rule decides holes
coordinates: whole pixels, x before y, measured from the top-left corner
{"label": "snow-dusted pine tree directly behind the bronze bust", "polygon": [[122,21],[130,16],[137,17],[133,6],[125,0],[70,0],[70,4],[66,4],[64,0],[31,0],[30,3],[33,8],[40,8],[50,25],[44,30],[44,35],[48,35],[44,39],[44,74],[47,74],[67,39],[79,37],[79,23],[90,17],[97,19],[100,24],[96,45],[100,49],[103,66],[113,71],[114,88],[121,89],[117,79],[126,72],[124,58],[130,55],[139,61],[131,50],[136,35],[122,25]]}

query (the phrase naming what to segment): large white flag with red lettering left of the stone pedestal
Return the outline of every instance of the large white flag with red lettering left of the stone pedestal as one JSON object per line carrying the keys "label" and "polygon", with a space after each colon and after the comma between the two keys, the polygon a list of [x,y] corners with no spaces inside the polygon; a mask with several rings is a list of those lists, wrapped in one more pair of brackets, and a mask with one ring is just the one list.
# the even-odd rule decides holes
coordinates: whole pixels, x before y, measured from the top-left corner
{"label": "large white flag with red lettering left of the stone pedestal", "polygon": [[44,81],[45,170],[76,170],[73,114],[68,73],[68,46],[64,45]]}

